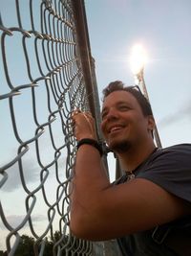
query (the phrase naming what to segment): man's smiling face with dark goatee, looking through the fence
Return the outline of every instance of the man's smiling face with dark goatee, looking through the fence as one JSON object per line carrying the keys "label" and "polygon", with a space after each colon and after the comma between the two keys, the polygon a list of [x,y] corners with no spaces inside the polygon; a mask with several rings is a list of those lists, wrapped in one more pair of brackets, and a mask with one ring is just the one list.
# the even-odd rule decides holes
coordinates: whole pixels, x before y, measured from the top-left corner
{"label": "man's smiling face with dark goatee, looking through the fence", "polygon": [[137,99],[127,91],[108,95],[102,107],[101,129],[110,149],[125,151],[151,139],[154,120],[145,117]]}

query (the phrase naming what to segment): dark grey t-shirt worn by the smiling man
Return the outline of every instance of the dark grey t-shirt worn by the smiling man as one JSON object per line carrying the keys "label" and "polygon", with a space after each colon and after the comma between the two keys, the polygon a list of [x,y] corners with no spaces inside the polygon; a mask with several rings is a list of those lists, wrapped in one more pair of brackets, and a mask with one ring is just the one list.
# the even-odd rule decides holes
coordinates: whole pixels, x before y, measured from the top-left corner
{"label": "dark grey t-shirt worn by the smiling man", "polygon": [[[148,179],[191,203],[191,144],[180,144],[154,151],[138,166],[134,174],[136,178]],[[126,181],[127,175],[123,175],[115,184]],[[169,246],[165,243],[167,237],[175,232],[178,234],[175,243],[185,241],[185,237],[190,241],[183,244],[185,253],[180,250],[180,254],[174,245]],[[117,242],[124,256],[191,255],[191,216],[117,239]]]}

